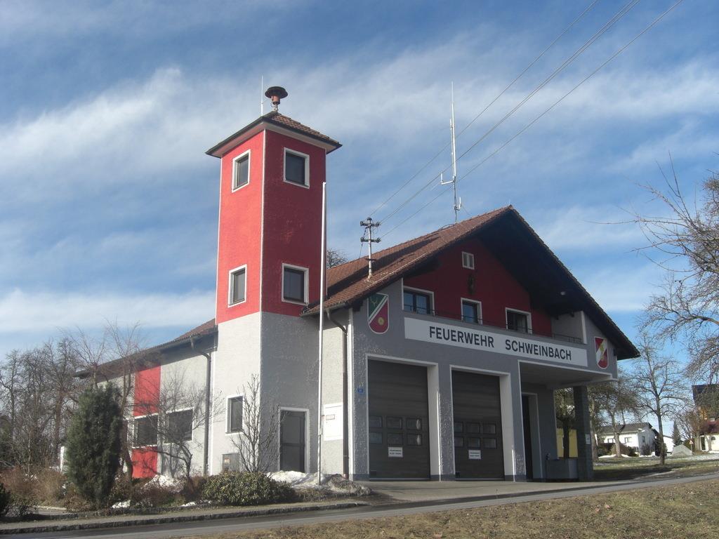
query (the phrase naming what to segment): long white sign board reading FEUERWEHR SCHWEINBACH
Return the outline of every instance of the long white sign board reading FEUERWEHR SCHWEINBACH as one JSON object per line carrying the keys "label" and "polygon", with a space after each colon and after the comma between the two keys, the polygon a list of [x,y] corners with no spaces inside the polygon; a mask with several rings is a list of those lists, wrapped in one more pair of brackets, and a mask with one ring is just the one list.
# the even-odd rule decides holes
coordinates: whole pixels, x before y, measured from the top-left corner
{"label": "long white sign board reading FEUERWEHR SCHWEINBACH", "polygon": [[483,329],[451,326],[418,318],[405,318],[405,338],[587,367],[587,350],[576,346],[535,341],[531,338],[521,338]]}

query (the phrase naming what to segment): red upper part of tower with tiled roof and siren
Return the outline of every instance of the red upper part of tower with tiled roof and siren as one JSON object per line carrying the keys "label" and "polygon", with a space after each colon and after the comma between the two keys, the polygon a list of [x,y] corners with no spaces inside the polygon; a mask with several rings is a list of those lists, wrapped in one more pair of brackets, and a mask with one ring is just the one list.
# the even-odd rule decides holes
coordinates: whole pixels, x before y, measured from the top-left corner
{"label": "red upper part of tower with tiled roof and siren", "polygon": [[339,142],[274,110],[216,146],[220,204],[216,323],[257,311],[298,315],[319,299],[322,183]]}

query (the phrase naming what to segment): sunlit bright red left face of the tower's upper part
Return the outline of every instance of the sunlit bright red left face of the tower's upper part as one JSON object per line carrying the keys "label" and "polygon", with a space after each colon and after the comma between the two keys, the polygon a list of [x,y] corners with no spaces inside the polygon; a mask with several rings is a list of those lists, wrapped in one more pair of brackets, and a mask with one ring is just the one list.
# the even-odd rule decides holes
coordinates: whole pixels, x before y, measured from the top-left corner
{"label": "sunlit bright red left face of the tower's upper part", "polygon": [[[260,310],[262,221],[262,132],[227,152],[221,160],[217,246],[216,323]],[[249,183],[232,192],[232,160],[249,149]],[[229,272],[247,264],[244,303],[229,306]]]}

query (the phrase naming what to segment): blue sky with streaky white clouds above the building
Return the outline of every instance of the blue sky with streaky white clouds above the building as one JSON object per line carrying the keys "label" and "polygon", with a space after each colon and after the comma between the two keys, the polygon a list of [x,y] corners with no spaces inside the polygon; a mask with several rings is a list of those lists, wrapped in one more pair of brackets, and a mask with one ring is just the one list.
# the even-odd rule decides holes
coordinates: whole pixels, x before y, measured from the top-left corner
{"label": "blue sky with streaky white clouds above the building", "polygon": [[[641,1],[459,162],[459,175],[673,2]],[[219,162],[205,150],[281,111],[338,139],[329,244],[359,254],[361,218],[462,129],[590,1],[0,4],[0,353],[62,328],[142,323],[147,343],[214,313]],[[624,4],[597,1],[457,139],[459,153]],[[512,203],[629,336],[661,282],[624,210],[651,211],[668,152],[692,192],[719,152],[719,4],[685,0],[459,183],[462,217]],[[265,108],[267,111],[268,108]],[[449,165],[443,152],[383,218]],[[386,234],[439,193],[424,190]],[[449,224],[443,195],[383,246]]]}

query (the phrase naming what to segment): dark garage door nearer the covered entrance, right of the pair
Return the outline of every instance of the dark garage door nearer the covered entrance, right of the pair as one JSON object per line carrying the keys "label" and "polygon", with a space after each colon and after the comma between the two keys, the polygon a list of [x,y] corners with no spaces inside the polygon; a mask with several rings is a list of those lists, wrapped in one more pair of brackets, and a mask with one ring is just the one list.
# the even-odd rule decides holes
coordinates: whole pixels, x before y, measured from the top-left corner
{"label": "dark garage door nearer the covered entrance, right of the pair", "polygon": [[457,479],[504,479],[499,378],[452,371]]}

